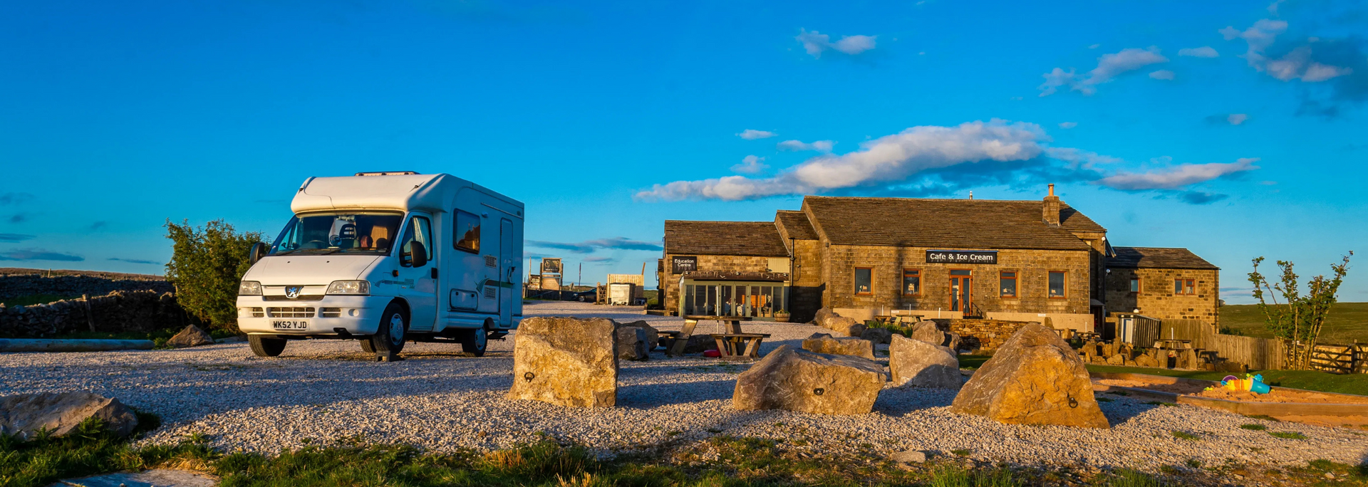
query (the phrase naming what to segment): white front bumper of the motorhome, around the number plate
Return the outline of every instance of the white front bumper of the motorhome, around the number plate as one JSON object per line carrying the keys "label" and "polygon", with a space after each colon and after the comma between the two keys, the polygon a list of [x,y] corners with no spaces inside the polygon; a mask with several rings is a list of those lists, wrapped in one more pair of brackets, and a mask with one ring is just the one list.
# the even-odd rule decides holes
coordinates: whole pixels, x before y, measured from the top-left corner
{"label": "white front bumper of the motorhome, around the number plate", "polygon": [[[324,295],[317,301],[267,301],[260,295],[238,297],[238,330],[271,335],[373,335],[389,295]],[[244,311],[246,309],[246,311]],[[272,321],[304,321],[302,330],[276,330]]]}

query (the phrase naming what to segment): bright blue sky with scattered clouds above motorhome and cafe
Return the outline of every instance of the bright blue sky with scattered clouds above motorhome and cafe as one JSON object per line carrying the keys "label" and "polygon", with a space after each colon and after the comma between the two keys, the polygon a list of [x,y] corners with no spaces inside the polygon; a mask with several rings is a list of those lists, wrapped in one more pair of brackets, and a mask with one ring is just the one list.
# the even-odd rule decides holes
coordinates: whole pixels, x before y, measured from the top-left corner
{"label": "bright blue sky with scattered clouds above motorhome and cafe", "polygon": [[1294,0],[10,1],[0,265],[160,274],[166,219],[274,235],[301,181],[371,170],[524,201],[586,282],[654,265],[665,219],[1056,182],[1246,302],[1254,256],[1368,242],[1365,33]]}

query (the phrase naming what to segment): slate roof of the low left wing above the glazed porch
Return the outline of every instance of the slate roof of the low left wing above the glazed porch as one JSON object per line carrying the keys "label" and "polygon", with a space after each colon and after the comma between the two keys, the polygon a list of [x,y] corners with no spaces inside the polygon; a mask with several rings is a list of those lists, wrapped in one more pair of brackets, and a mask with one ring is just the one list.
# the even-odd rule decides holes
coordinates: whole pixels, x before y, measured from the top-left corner
{"label": "slate roof of the low left wing above the glazed porch", "polygon": [[665,253],[788,257],[774,222],[665,220]]}

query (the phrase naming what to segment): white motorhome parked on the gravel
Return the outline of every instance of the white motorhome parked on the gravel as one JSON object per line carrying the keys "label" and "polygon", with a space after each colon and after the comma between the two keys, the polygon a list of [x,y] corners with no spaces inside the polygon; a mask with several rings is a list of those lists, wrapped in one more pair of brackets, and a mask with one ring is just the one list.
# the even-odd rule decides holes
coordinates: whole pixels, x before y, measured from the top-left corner
{"label": "white motorhome parked on the gravel", "polygon": [[360,339],[393,358],[406,341],[483,356],[523,319],[523,204],[449,175],[309,178],[294,218],[252,248],[238,328],[275,357],[290,339]]}

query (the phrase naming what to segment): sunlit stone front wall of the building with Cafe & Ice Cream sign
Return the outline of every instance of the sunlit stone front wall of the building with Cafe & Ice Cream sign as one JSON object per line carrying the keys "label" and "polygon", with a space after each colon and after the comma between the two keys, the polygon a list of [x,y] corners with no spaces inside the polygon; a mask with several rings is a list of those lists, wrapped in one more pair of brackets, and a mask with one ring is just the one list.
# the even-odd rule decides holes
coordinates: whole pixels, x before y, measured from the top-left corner
{"label": "sunlit stone front wall of the building with Cafe & Ice Cream sign", "polygon": [[[928,248],[822,246],[822,304],[830,308],[951,309],[949,271],[973,272],[973,302],[984,312],[1088,313],[1090,250],[997,250],[997,264],[928,264]],[[873,268],[873,293],[855,294],[855,268]],[[903,271],[921,271],[921,294],[903,294]],[[1000,271],[1016,271],[1016,298],[1001,298]],[[1048,297],[1049,271],[1066,272],[1066,297]]]}

